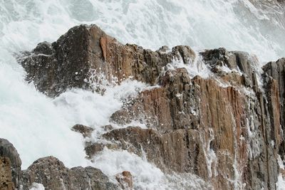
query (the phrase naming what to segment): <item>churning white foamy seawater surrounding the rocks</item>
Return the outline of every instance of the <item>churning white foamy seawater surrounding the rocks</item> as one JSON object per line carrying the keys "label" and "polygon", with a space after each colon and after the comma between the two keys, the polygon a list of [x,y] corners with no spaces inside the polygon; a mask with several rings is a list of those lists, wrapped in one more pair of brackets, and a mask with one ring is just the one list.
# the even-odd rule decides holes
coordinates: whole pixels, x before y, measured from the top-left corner
{"label": "churning white foamy seawater surrounding the rocks", "polygon": [[[0,137],[18,149],[24,168],[39,157],[53,155],[67,167],[92,165],[108,176],[131,171],[138,188],[174,188],[173,178],[182,176],[166,176],[135,154],[105,149],[94,163],[88,162],[83,138],[70,130],[80,123],[100,134],[100,126],[108,125],[110,115],[123,104],[122,97],[148,88],[145,84],[126,81],[107,88],[103,96],[71,90],[51,99],[24,81],[14,54],[41,41],[56,41],[72,26],[95,23],[123,43],[153,50],[180,44],[197,51],[225,47],[254,53],[262,64],[285,56],[284,9],[268,2],[0,0]],[[183,179],[181,186],[201,184],[195,176]]]}

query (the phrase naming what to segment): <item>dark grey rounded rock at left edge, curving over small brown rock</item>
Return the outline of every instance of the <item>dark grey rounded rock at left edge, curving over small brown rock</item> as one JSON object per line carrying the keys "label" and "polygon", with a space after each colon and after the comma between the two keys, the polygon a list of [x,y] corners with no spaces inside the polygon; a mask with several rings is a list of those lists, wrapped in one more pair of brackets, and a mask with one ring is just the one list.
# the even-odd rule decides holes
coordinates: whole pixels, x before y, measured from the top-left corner
{"label": "dark grey rounded rock at left edge, curving over small brown rock", "polygon": [[11,165],[11,174],[15,187],[19,188],[19,181],[21,179],[21,159],[20,156],[8,140],[0,139],[0,157],[9,159]]}

